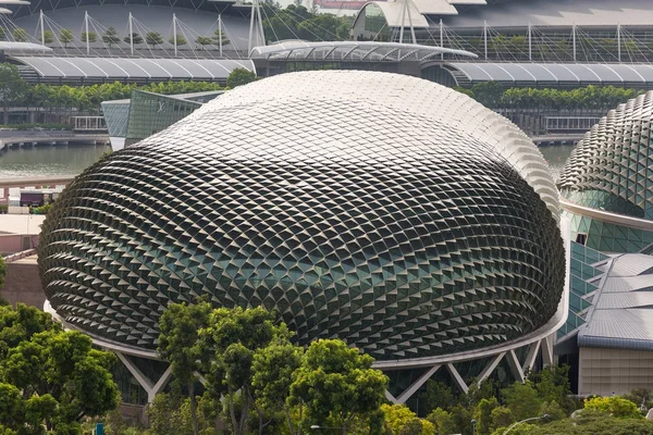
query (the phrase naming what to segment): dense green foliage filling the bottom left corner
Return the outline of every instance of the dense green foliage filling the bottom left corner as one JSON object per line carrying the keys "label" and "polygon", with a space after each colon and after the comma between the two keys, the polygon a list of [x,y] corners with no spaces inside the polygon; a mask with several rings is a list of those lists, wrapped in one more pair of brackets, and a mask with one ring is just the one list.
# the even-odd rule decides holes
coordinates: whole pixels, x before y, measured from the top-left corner
{"label": "dense green foliage filling the bottom left corner", "polygon": [[[49,314],[19,303],[0,307],[0,421],[20,433],[77,434],[85,417],[120,400],[110,373],[113,353],[96,350],[79,332],[63,332]],[[16,391],[20,391],[16,395]]]}

